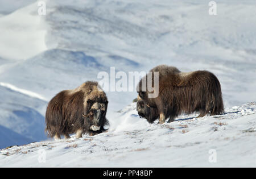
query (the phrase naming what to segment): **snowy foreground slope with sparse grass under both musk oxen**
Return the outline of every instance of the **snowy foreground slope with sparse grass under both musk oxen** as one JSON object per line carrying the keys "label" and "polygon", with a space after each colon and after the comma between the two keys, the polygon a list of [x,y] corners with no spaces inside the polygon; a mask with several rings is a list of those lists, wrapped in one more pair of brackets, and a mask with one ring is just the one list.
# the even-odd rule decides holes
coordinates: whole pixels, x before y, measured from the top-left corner
{"label": "snowy foreground slope with sparse grass under both musk oxen", "polygon": [[[115,130],[2,149],[0,166],[255,167],[255,108],[256,102],[251,102],[226,109],[224,115],[184,115],[172,123],[148,124],[133,103],[119,114]],[[216,163],[209,162],[212,149]],[[43,159],[46,163],[40,163]]]}

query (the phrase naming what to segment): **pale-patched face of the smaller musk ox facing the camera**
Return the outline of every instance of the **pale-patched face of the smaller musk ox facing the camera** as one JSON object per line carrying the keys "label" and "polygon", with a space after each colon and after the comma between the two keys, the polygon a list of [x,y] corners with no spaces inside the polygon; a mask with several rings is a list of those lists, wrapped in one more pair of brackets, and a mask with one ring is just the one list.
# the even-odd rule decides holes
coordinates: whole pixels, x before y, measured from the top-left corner
{"label": "pale-patched face of the smaller musk ox facing the camera", "polygon": [[89,103],[91,107],[86,115],[85,125],[89,127],[89,130],[93,132],[93,134],[98,134],[102,131],[105,124],[108,101],[93,102],[89,100],[87,103]]}

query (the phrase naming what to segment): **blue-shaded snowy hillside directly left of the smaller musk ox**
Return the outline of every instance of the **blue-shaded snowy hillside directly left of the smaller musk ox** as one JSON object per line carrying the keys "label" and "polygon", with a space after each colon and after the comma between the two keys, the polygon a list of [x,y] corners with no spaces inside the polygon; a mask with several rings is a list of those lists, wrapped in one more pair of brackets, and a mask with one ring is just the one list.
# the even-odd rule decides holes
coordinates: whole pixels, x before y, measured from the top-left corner
{"label": "blue-shaded snowy hillside directly left of the smaller musk ox", "polygon": [[[47,102],[31,97],[28,95],[30,93],[20,93],[24,92],[23,90],[15,91],[2,85],[0,83],[0,98],[2,99],[0,103],[0,126],[3,129],[1,130],[1,147],[28,144],[32,141],[46,139],[43,115]],[[17,140],[18,135],[16,134],[19,134],[19,138],[22,140]],[[12,136],[14,136],[13,139],[11,139]],[[22,141],[26,142],[22,143]]]}

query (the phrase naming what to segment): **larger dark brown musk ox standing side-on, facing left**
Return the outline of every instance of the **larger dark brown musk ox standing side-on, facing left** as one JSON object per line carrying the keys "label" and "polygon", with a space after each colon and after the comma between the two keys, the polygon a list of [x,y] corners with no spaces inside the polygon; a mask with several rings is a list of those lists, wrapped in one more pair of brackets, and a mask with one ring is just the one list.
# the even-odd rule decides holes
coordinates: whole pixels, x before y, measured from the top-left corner
{"label": "larger dark brown musk ox standing side-on, facing left", "polygon": [[[199,112],[197,118],[206,114],[224,113],[221,85],[213,73],[206,70],[184,73],[167,65],[156,66],[150,72],[153,74],[147,74],[142,80],[150,78],[153,90],[142,90],[142,80],[137,86],[137,111],[149,123],[156,119],[159,119],[159,123],[164,123],[167,118],[168,122],[172,122],[182,113]],[[158,85],[154,84],[154,72],[159,73]],[[148,81],[146,85],[148,86]],[[150,98],[149,94],[155,90],[158,90],[157,97]]]}

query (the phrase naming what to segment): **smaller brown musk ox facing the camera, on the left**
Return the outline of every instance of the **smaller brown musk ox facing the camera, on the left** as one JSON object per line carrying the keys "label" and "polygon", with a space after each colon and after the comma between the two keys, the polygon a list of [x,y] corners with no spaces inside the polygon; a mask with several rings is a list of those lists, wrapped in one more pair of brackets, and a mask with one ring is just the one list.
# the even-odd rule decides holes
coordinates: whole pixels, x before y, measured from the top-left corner
{"label": "smaller brown musk ox facing the camera, on the left", "polygon": [[86,81],[73,90],[64,90],[49,101],[46,110],[46,132],[49,137],[60,139],[61,135],[76,138],[105,131],[108,98],[97,82]]}

